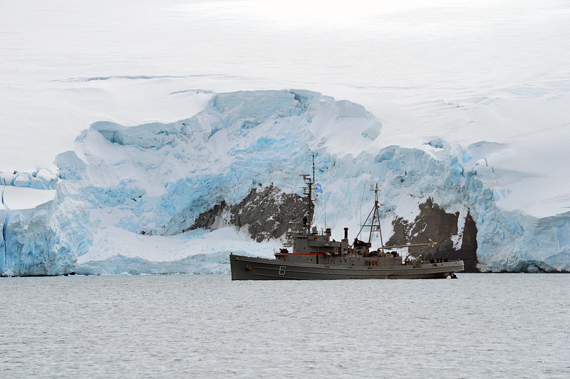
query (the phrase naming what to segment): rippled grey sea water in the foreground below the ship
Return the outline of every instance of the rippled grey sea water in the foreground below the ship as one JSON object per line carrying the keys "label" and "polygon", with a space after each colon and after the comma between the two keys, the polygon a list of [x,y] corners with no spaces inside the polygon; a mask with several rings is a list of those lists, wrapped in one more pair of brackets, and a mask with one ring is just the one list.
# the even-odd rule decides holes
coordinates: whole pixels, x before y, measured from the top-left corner
{"label": "rippled grey sea water in the foreground below the ship", "polygon": [[4,378],[569,378],[570,275],[0,279]]}

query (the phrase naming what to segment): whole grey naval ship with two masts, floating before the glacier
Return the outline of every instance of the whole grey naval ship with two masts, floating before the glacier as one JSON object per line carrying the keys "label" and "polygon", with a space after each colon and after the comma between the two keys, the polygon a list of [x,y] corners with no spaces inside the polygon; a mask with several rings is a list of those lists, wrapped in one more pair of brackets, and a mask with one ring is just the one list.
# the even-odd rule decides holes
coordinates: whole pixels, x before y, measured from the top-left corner
{"label": "whole grey naval ship with two masts, floating before the glacier", "polygon": [[[418,251],[434,246],[426,244],[406,244],[384,246],[380,229],[380,202],[378,185],[375,186],[375,202],[366,222],[352,243],[348,242],[348,228],[344,228],[341,241],[331,239],[331,229],[318,232],[309,218],[313,214],[314,196],[321,191],[315,185],[315,165],[313,157],[313,177],[302,175],[305,182],[304,194],[308,212],[302,225],[289,233],[292,251],[286,247],[275,253],[275,259],[229,255],[232,280],[302,280],[302,279],[446,279],[455,278],[457,271],[463,270],[463,261],[424,261]],[[370,228],[368,242],[358,239],[364,228]],[[379,234],[380,246],[373,250],[373,234]],[[398,250],[419,249],[405,258]]]}

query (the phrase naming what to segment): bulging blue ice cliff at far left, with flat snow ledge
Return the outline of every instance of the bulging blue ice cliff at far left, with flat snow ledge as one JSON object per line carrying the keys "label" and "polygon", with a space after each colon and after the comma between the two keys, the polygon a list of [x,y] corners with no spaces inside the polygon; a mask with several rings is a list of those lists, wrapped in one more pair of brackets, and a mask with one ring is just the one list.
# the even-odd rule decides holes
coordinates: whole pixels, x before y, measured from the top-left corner
{"label": "bulging blue ice cliff at far left, with flat snow ledge", "polygon": [[0,274],[4,276],[66,274],[90,244],[87,209],[64,193],[56,175],[36,174],[16,172],[8,181],[11,185],[0,187]]}

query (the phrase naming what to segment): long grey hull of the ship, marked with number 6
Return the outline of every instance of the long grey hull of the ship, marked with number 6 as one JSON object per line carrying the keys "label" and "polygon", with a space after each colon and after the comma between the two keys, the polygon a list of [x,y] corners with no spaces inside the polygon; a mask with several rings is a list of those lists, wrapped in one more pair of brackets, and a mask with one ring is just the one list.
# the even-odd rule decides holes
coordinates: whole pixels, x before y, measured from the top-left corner
{"label": "long grey hull of the ship, marked with number 6", "polygon": [[395,266],[326,265],[230,254],[232,280],[445,279],[463,261]]}

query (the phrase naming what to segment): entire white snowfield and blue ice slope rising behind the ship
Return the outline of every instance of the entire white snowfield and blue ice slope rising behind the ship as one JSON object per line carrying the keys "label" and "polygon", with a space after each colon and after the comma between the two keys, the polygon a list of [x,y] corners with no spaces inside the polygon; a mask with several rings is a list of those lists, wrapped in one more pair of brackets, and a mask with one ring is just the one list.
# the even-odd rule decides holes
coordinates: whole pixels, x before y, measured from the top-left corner
{"label": "entire white snowfield and blue ice slope rising behind the ship", "polygon": [[[11,246],[0,271],[60,273],[76,257],[115,253],[172,261],[237,245],[270,255],[219,214],[219,248],[205,247],[213,234],[177,233],[204,207],[234,207],[256,184],[296,191],[309,150],[328,186],[329,226],[355,229],[380,178],[385,202],[407,219],[433,196],[460,212],[460,233],[470,209],[481,269],[567,267],[564,1],[5,0],[0,8],[0,254]],[[293,90],[307,97],[296,100],[282,88],[336,100]]]}

